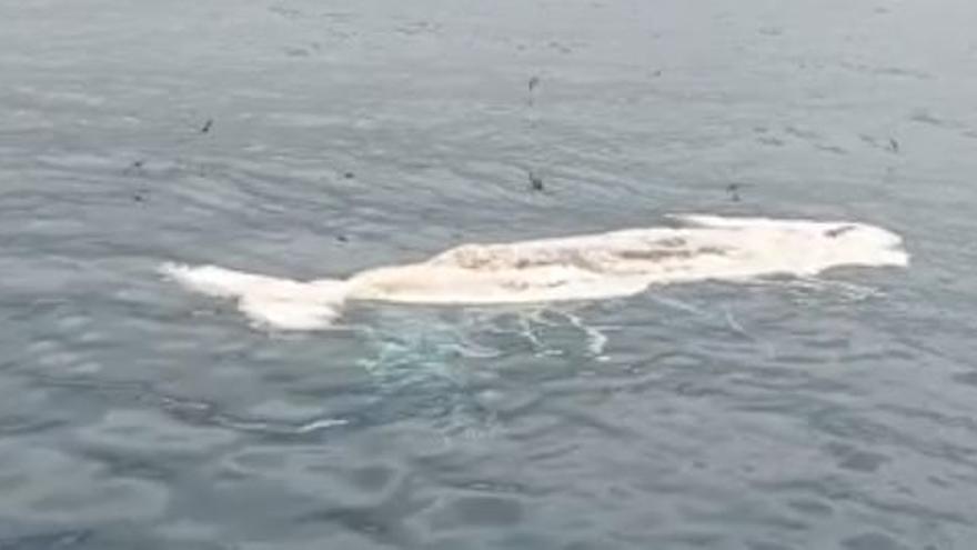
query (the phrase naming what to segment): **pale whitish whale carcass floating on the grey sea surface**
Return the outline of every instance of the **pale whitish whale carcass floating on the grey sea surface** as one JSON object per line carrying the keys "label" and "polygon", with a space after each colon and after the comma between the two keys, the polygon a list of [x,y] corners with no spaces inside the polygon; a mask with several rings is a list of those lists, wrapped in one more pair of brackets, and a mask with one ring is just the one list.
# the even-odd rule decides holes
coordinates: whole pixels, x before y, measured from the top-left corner
{"label": "pale whitish whale carcass floating on the grey sea surface", "polygon": [[462,244],[426,261],[381,267],[345,280],[298,281],[215,266],[167,263],[183,287],[235,299],[275,329],[332,324],[348,300],[501,304],[624,297],[653,284],[815,276],[842,266],[906,266],[903,239],[864,223],[676,217],[682,227],[510,243]]}

